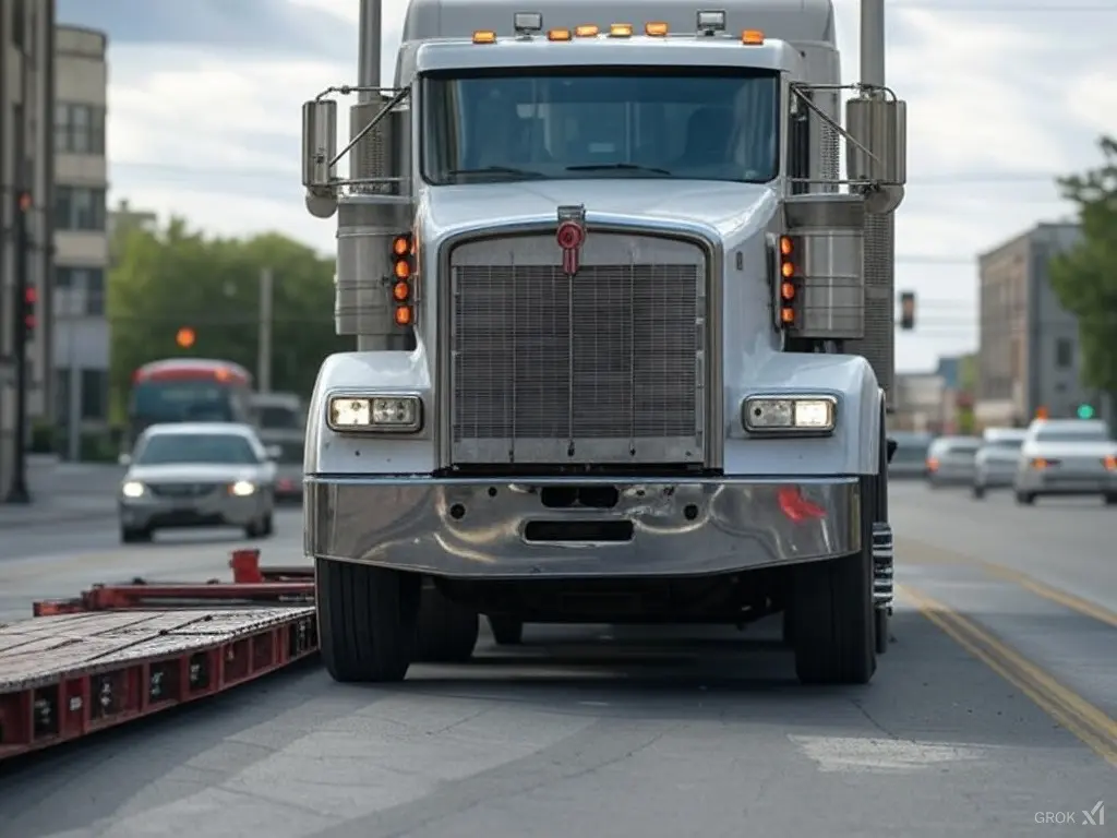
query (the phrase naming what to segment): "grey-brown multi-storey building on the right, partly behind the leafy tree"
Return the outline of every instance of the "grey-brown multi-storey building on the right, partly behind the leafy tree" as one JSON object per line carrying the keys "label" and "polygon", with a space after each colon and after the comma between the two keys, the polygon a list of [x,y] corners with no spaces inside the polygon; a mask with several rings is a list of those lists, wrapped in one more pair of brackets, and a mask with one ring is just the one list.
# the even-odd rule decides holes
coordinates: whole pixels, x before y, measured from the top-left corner
{"label": "grey-brown multi-storey building on the right, partly behind the leafy tree", "polygon": [[1050,285],[1075,223],[1041,223],[978,257],[977,393],[983,426],[1027,425],[1041,409],[1072,417],[1096,393],[1080,380],[1078,321]]}

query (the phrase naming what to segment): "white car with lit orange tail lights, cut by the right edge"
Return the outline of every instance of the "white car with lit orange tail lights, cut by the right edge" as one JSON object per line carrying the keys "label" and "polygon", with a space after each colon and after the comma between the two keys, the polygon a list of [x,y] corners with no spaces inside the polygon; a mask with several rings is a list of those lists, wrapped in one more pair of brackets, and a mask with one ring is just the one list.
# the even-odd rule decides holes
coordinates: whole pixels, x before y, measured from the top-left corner
{"label": "white car with lit orange tail lights, cut by the right edge", "polygon": [[1117,442],[1100,419],[1037,419],[1013,480],[1016,503],[1041,495],[1101,495],[1117,504]]}

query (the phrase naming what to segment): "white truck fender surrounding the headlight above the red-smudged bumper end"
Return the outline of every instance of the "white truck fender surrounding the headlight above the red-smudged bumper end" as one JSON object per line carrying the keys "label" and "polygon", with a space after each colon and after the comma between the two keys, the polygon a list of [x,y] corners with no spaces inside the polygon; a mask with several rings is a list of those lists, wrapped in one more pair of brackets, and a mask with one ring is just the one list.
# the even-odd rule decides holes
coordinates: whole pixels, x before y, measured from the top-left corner
{"label": "white truck fender surrounding the headlight above the red-smudged bumper end", "polygon": [[[838,399],[830,437],[753,437],[741,406],[750,396],[825,393]],[[748,381],[726,388],[725,473],[756,476],[875,475],[880,470],[880,385],[860,355],[774,353]]]}

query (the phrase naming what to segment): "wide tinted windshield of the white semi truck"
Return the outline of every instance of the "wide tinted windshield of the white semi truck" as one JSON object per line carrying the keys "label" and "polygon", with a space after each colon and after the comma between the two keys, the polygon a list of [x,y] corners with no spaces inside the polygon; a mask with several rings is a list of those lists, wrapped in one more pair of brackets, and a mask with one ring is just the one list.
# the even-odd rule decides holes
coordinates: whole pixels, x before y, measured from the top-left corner
{"label": "wide tinted windshield of the white semi truck", "polygon": [[427,76],[422,172],[430,183],[632,177],[764,183],[779,173],[774,73],[508,72]]}

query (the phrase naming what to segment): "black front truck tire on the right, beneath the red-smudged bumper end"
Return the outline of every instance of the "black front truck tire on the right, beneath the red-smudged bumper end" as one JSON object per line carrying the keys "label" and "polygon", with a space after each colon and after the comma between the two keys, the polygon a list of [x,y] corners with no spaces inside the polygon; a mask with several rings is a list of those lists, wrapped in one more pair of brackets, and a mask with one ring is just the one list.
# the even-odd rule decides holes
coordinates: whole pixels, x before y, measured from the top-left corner
{"label": "black front truck tire on the right, beneath the red-smudged bumper end", "polygon": [[872,518],[877,480],[861,478],[861,550],[796,568],[791,645],[801,684],[868,684],[877,670]]}

